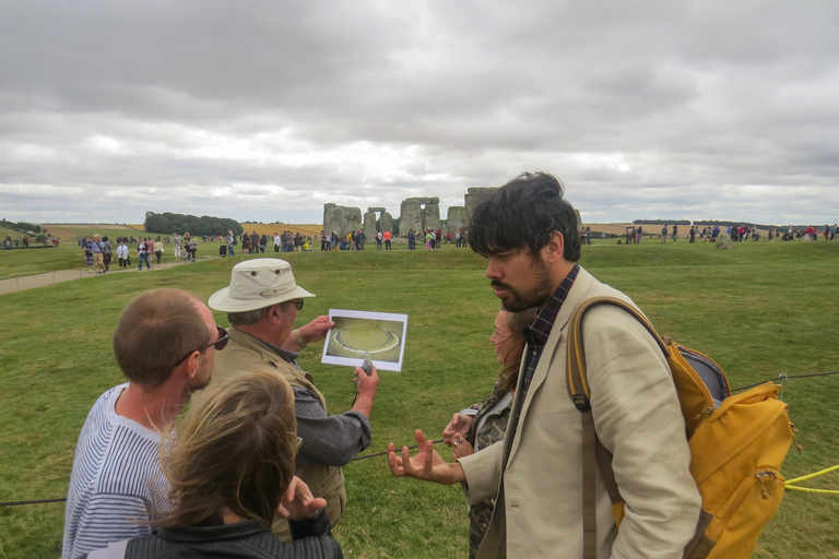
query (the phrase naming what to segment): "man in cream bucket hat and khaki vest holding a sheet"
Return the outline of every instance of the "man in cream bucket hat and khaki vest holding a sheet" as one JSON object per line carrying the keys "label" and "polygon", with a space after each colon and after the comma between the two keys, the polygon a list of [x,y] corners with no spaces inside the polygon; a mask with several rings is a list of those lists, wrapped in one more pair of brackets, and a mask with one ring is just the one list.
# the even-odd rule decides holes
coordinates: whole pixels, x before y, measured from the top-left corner
{"label": "man in cream bucket hat and khaki vest holding a sheet", "polygon": [[[231,322],[226,358],[216,357],[212,383],[257,369],[275,370],[288,381],[294,390],[297,436],[303,439],[295,474],[315,497],[327,500],[327,514],[335,526],[346,506],[341,466],[370,443],[379,376],[375,368],[368,377],[356,367],[353,408],[340,415],[327,414],[326,401],[311,374],[295,361],[300,349],[323,340],[334,322],[323,316],[295,330],[297,311],[307,297],[315,295],[297,285],[291,264],[284,260],[259,258],[236,264],[229,287],[213,294],[209,301],[210,308],[227,312]],[[193,400],[200,397],[197,394]],[[272,531],[280,539],[292,540],[286,521],[274,521]]]}

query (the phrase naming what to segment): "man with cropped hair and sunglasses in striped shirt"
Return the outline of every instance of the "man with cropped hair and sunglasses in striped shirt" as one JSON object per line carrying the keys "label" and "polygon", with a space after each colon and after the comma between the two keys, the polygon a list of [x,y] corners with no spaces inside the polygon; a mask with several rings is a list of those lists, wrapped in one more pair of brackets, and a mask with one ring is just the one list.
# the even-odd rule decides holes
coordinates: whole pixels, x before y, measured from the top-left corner
{"label": "man with cropped hair and sunglasses in striped shirt", "polygon": [[147,522],[166,507],[159,433],[210,383],[226,340],[210,309],[179,289],[145,292],[122,311],[114,355],[128,382],[99,396],[79,436],[63,559],[151,532]]}

